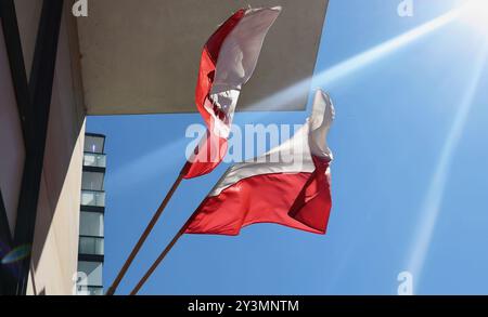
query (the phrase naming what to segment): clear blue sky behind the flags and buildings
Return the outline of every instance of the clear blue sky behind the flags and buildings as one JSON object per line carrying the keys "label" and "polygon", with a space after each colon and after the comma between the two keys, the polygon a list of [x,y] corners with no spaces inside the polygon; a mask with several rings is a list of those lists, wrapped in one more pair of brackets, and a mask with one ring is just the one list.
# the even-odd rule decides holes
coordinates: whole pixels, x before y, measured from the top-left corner
{"label": "clear blue sky behind the flags and buildings", "polygon": [[[488,293],[488,38],[454,19],[390,41],[461,2],[414,0],[414,15],[399,17],[400,0],[331,0],[313,79],[336,107],[328,235],[260,224],[239,237],[183,236],[140,293],[396,294],[403,270],[419,294]],[[306,117],[245,113],[235,124]],[[196,114],[88,119],[88,131],[107,136],[106,287],[176,179],[195,122]],[[183,182],[119,293],[227,168]]]}

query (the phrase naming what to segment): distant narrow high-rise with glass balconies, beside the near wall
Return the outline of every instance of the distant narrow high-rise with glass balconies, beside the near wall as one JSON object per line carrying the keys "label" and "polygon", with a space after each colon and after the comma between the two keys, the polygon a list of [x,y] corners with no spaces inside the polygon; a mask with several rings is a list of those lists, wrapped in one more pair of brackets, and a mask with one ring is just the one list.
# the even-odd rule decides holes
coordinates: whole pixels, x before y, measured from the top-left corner
{"label": "distant narrow high-rise with glass balconies, beside the near wall", "polygon": [[103,295],[105,136],[86,133],[79,213],[77,293]]}

